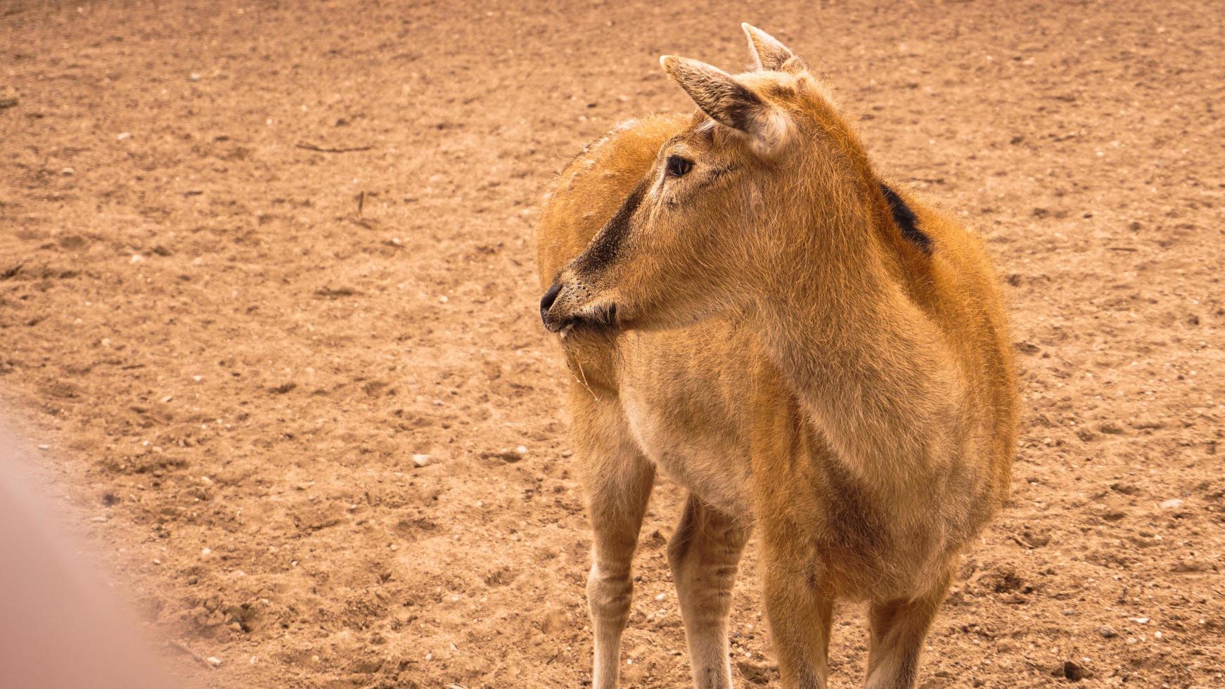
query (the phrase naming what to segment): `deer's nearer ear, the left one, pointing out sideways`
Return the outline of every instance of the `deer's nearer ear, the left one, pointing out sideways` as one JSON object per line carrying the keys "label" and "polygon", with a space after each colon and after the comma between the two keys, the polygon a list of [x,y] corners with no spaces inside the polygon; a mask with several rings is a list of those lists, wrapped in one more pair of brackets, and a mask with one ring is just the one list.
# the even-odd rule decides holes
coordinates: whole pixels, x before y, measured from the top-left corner
{"label": "deer's nearer ear, the left one, pointing out sideways", "polygon": [[675,55],[664,55],[659,64],[703,113],[747,135],[760,151],[773,149],[783,141],[786,116],[728,72]]}

